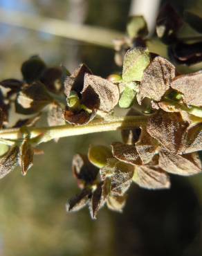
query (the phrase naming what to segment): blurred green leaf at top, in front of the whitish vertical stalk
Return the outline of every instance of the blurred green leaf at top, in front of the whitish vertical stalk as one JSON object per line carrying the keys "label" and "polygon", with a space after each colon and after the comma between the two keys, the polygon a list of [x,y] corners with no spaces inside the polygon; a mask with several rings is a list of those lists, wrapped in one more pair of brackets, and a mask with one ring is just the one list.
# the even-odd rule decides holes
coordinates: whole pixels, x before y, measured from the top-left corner
{"label": "blurred green leaf at top, in front of the whitish vertical stalk", "polygon": [[143,37],[148,34],[147,23],[143,16],[133,16],[129,18],[127,24],[127,33],[129,37]]}

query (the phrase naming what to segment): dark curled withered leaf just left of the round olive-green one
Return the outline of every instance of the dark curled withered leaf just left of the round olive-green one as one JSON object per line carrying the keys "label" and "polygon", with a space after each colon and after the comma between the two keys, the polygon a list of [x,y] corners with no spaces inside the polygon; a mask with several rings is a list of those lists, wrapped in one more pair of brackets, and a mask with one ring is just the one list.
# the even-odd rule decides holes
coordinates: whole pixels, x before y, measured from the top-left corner
{"label": "dark curled withered leaf just left of the round olive-green one", "polygon": [[92,165],[88,157],[83,154],[73,156],[72,170],[80,187],[93,183],[99,172],[99,169]]}

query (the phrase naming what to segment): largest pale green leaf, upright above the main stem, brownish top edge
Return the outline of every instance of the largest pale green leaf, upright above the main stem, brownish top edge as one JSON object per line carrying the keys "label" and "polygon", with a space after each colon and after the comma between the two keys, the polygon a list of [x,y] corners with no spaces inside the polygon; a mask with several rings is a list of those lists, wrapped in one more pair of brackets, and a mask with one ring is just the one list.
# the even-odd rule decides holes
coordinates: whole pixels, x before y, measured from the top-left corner
{"label": "largest pale green leaf, upright above the main stem, brownish top edge", "polygon": [[143,72],[149,65],[150,57],[147,48],[133,48],[125,54],[122,79],[124,82],[140,81],[143,78]]}

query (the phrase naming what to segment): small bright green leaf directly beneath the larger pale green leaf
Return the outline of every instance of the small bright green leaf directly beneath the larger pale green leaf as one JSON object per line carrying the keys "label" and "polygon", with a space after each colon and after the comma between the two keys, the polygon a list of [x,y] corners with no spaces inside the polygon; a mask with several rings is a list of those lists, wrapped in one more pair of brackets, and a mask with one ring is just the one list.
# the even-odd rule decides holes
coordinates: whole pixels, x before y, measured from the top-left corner
{"label": "small bright green leaf directly beneath the larger pale green leaf", "polygon": [[122,95],[120,96],[120,100],[118,102],[119,107],[125,108],[125,109],[131,107],[135,98],[136,98],[136,91],[134,91],[134,89],[131,89],[127,86],[123,91]]}

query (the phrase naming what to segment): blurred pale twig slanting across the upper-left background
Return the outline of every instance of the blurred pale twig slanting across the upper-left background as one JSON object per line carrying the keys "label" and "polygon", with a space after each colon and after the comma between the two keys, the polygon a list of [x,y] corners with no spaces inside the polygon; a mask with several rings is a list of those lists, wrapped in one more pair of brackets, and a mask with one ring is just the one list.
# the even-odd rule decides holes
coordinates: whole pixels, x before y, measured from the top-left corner
{"label": "blurred pale twig slanting across the upper-left background", "polygon": [[113,48],[113,39],[124,36],[115,30],[73,24],[68,21],[28,15],[24,12],[4,8],[0,8],[0,22],[108,48]]}

